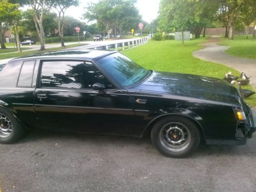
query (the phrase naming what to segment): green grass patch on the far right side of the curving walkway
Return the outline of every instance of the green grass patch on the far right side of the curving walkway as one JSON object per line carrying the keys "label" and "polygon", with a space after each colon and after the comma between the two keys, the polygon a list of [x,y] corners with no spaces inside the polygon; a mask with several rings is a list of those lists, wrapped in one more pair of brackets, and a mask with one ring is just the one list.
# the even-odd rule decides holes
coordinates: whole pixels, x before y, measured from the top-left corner
{"label": "green grass patch on the far right side of the curving walkway", "polygon": [[248,39],[246,36],[235,35],[234,40],[229,40],[227,38],[221,38],[223,41],[218,42],[218,45],[230,46],[226,50],[227,54],[245,57],[250,59],[256,59],[256,39],[252,39],[252,35],[249,35]]}

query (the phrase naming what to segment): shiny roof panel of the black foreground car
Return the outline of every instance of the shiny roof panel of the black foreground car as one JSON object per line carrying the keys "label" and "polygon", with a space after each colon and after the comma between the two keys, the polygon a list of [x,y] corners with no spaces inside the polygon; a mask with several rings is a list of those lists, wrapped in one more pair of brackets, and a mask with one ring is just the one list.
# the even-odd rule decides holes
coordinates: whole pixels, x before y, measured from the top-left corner
{"label": "shiny roof panel of the black foreground car", "polygon": [[39,53],[39,54],[33,54],[23,57],[17,57],[12,60],[18,60],[18,59],[26,59],[26,58],[65,58],[65,59],[97,59],[100,57],[104,57],[113,53],[116,53],[117,51],[111,51],[111,50],[90,50],[90,49],[84,49],[84,50],[61,50],[61,51],[52,51],[47,53]]}

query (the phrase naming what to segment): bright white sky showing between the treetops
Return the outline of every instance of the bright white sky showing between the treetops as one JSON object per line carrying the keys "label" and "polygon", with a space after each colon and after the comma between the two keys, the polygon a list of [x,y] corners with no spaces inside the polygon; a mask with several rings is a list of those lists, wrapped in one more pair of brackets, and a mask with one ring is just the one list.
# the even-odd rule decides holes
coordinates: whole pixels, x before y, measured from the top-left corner
{"label": "bright white sky showing between the treetops", "polygon": [[[76,19],[81,19],[82,14],[84,13],[84,7],[87,7],[89,2],[96,3],[97,0],[80,0],[80,5],[78,7],[69,8],[65,15],[70,15],[75,17]],[[146,22],[150,23],[150,19],[154,19],[157,17],[158,8],[159,8],[160,0],[137,0],[137,8],[142,15],[142,19]],[[87,20],[83,20],[87,22]]]}

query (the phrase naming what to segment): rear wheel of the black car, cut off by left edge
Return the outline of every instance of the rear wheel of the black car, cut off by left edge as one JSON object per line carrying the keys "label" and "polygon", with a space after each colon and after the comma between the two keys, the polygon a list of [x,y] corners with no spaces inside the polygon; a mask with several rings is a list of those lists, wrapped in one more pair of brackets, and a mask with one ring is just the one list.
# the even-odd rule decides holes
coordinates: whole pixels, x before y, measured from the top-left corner
{"label": "rear wheel of the black car, cut off by left edge", "polygon": [[[8,130],[6,131],[6,129]],[[24,133],[24,127],[16,118],[8,110],[0,108],[0,143],[14,143]]]}

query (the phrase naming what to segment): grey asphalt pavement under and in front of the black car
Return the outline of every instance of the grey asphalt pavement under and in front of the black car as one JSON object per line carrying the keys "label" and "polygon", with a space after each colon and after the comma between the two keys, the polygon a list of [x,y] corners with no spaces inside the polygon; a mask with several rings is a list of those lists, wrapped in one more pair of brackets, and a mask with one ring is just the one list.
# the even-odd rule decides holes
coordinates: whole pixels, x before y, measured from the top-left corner
{"label": "grey asphalt pavement under and in front of the black car", "polygon": [[[254,109],[254,115],[256,110]],[[0,145],[5,191],[256,191],[256,134],[246,145],[162,156],[150,138],[34,131]]]}

